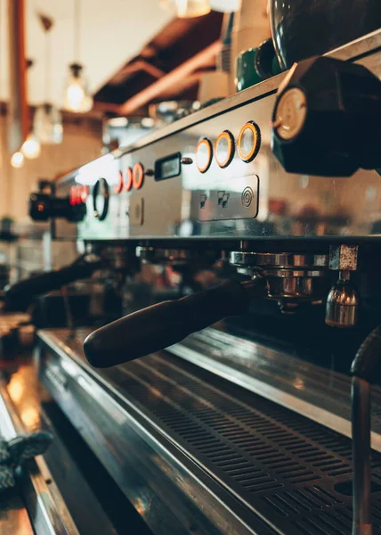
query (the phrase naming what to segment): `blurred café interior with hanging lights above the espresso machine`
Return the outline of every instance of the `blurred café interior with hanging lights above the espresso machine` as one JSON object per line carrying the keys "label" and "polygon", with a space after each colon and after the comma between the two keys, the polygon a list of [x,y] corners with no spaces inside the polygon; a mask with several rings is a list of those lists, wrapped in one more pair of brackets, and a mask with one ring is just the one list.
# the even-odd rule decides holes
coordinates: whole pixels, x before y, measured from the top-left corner
{"label": "blurred caf\u00e9 interior with hanging lights above the espresso machine", "polygon": [[[0,0],[0,218],[20,229],[39,180],[233,93],[233,78],[210,73],[231,69],[238,6]],[[261,9],[253,45],[270,36],[265,2]]]}

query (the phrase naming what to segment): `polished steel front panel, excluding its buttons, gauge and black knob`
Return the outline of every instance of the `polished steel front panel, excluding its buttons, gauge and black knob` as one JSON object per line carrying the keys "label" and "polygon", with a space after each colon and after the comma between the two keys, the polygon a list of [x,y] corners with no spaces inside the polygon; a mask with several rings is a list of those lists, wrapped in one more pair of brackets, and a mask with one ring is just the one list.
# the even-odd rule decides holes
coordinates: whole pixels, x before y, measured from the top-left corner
{"label": "polished steel front panel, excluding its buttons, gauge and black knob", "polygon": [[[356,60],[361,53],[358,61],[379,75],[380,44],[381,31],[377,31],[333,54]],[[61,195],[68,193],[73,184],[92,188],[100,177],[110,186],[106,217],[103,221],[93,217],[90,194],[88,215],[78,225],[78,237],[269,240],[282,236],[340,236],[344,242],[352,236],[379,237],[381,185],[377,171],[358,171],[352,177],[339,179],[298,176],[287,174],[272,156],[269,123],[274,93],[281,79],[280,75],[233,95],[62,179],[58,186]],[[247,163],[235,152],[224,169],[214,158],[204,173],[193,163],[181,164],[180,175],[176,177],[157,180],[152,176],[151,170],[159,159],[180,152],[183,158],[195,161],[200,138],[207,137],[215,144],[229,127],[237,140],[241,128],[250,120],[259,126],[262,139],[253,161]],[[138,162],[147,171],[142,187],[115,193],[119,170],[133,168]],[[73,226],[61,222],[57,222],[57,228],[58,236],[75,232]]]}

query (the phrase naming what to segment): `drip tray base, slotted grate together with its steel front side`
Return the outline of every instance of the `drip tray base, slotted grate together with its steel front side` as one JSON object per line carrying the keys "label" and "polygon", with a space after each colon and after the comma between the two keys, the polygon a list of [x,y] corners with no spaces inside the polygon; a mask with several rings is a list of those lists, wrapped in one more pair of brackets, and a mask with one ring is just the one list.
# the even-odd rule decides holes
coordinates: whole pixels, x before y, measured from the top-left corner
{"label": "drip tray base, slotted grate together with its steel front side", "polygon": [[[172,474],[176,474],[177,483],[182,480],[186,458],[194,463],[193,476],[199,474],[201,468],[204,477],[212,475],[213,480],[218,481],[222,503],[213,514],[223,517],[224,505],[233,506],[240,516],[243,511],[239,506],[244,503],[248,511],[267,523],[268,528],[263,523],[255,529],[253,518],[246,516],[247,525],[261,535],[268,530],[314,535],[321,533],[321,527],[325,535],[336,535],[337,531],[349,535],[352,524],[348,512],[352,498],[347,491],[352,477],[350,440],[270,400],[231,383],[220,382],[215,376],[166,353],[151,355],[127,366],[95,371],[85,365],[82,353],[77,350],[81,333],[77,340],[69,339],[63,331],[40,335],[45,340],[43,381],[77,425],[84,417],[80,413],[85,413],[87,425],[83,425],[82,420],[81,433],[89,440],[91,423],[92,442],[89,444],[125,491],[128,485],[122,475],[130,457],[137,455],[136,449],[130,449],[128,417],[131,424],[135,419],[140,421],[146,433],[151,433],[152,426],[158,429],[158,444],[172,443],[176,447],[174,457],[178,466]],[[61,376],[62,380],[52,382],[46,374],[49,369],[53,369],[56,379]],[[101,387],[99,390],[97,385]],[[85,391],[81,391],[80,386]],[[112,411],[108,409],[110,397],[114,399]],[[120,412],[124,407],[125,419]],[[106,410],[108,417],[103,418]],[[146,434],[145,440],[147,438]],[[143,444],[136,443],[136,447],[144,449]],[[118,471],[112,469],[109,449],[118,458]],[[162,453],[158,450],[161,466],[164,466],[166,458]],[[373,475],[377,481],[377,454],[373,461]],[[150,485],[154,484],[152,478],[156,473],[153,468]],[[131,477],[131,469],[128,471]],[[136,464],[136,459],[135,471],[144,478],[145,468],[142,463]],[[211,480],[203,481],[210,491]],[[130,480],[130,491],[133,485]],[[166,478],[162,476],[163,499],[168,490]],[[191,485],[181,485],[176,498],[186,495],[195,503],[195,490],[194,481]],[[224,490],[229,493],[224,494]],[[235,501],[231,502],[229,496],[234,496]],[[372,495],[376,532],[380,530],[379,498],[376,491]],[[210,495],[204,499],[202,510],[210,518],[213,507]],[[154,503],[155,498],[152,498],[151,504]],[[158,517],[164,513],[163,508],[158,508]],[[242,516],[240,518],[243,520]],[[194,522],[198,522],[198,517]],[[232,527],[230,529],[234,532]]]}

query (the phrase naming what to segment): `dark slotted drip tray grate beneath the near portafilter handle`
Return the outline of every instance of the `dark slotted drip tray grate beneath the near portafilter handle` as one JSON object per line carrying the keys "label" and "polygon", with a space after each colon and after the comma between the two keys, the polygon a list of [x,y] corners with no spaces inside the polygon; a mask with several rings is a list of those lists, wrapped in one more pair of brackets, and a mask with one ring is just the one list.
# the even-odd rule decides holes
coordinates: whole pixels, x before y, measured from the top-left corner
{"label": "dark slotted drip tray grate beneath the near portafilter handle", "polygon": [[[275,532],[351,533],[351,440],[164,353],[101,374]],[[380,468],[375,453],[377,533]]]}

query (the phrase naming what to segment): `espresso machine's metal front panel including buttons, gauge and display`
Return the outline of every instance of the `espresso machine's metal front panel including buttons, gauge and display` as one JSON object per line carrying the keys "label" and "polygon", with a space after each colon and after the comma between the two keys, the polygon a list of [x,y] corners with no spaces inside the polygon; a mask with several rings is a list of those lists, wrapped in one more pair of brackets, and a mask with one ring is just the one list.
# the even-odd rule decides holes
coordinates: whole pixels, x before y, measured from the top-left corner
{"label": "espresso machine's metal front panel including buttons, gauge and display", "polygon": [[[375,169],[337,180],[290,173],[279,151],[274,155],[273,131],[286,155],[291,144],[296,150],[308,119],[295,87],[282,99],[280,86],[277,99],[281,76],[61,179],[61,197],[72,186],[87,188],[73,190],[73,199],[81,195],[86,207],[73,235],[77,231],[85,240],[379,235],[381,181]],[[316,152],[312,145],[307,149]],[[298,154],[305,160],[303,151]],[[60,229],[68,235],[68,226],[58,222],[58,237]]]}

